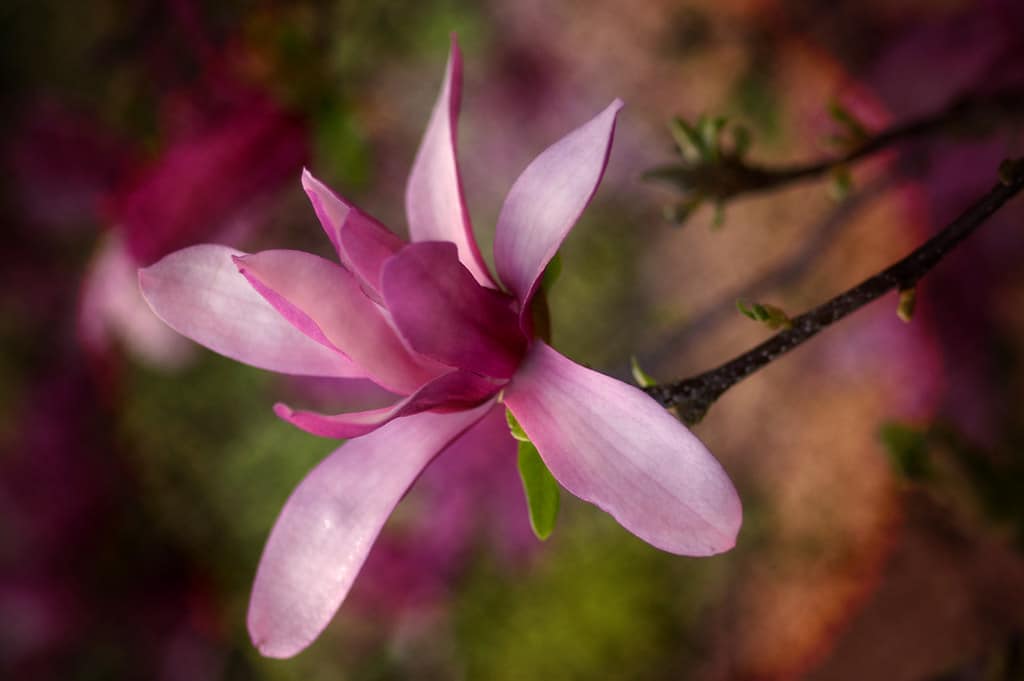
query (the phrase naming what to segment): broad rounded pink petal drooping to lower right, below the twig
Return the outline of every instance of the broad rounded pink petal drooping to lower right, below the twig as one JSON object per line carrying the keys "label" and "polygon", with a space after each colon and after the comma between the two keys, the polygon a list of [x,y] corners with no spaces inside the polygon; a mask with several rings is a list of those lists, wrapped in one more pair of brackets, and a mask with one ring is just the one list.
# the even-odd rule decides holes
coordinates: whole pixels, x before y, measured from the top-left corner
{"label": "broad rounded pink petal drooping to lower right, below the twig", "polygon": [[558,481],[637,537],[692,556],[735,544],[742,509],[728,476],[642,390],[536,341],[505,403]]}

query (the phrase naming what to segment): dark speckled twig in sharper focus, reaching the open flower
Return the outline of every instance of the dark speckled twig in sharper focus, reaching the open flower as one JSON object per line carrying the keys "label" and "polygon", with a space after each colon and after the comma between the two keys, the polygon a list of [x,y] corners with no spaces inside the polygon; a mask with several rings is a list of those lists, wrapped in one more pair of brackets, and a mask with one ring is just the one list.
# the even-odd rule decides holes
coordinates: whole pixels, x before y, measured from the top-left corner
{"label": "dark speckled twig in sharper focus, reaching the open flower", "polygon": [[912,289],[946,254],[1022,188],[1024,159],[1004,162],[998,184],[899,262],[795,317],[791,329],[717,369],[675,383],[652,385],[645,390],[665,407],[676,408],[686,423],[700,421],[715,400],[743,378],[884,294]]}

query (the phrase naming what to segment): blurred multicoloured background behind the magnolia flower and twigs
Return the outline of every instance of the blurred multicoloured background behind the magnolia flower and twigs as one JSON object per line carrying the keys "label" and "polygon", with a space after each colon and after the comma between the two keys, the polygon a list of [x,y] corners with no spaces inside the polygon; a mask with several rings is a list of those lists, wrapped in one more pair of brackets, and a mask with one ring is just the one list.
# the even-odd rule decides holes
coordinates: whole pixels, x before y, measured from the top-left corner
{"label": "blurred multicoloured background behind the magnolia flower and twigs", "polygon": [[826,180],[663,218],[666,121],[726,115],[764,163],[1024,82],[1016,0],[8,0],[0,7],[0,670],[7,679],[1024,678],[1024,200],[919,292],[744,381],[696,433],[743,499],[731,553],[668,555],[567,495],[530,535],[515,463],[441,459],[329,630],[245,632],[262,543],[337,445],[270,406],[378,399],[191,346],[135,270],[195,243],[328,253],[305,165],[399,232],[449,36],[460,159],[489,251],[525,164],[627,102],[566,241],[554,344],[669,380],[901,257],[1020,155],[974,121]]}

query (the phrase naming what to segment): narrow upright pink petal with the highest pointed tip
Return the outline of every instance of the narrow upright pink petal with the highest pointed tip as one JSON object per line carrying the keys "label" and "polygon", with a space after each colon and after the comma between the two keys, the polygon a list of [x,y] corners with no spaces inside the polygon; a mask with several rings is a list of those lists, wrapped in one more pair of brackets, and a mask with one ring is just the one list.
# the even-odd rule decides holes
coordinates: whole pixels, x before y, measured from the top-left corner
{"label": "narrow upright pink petal with the highest pointed tip", "polygon": [[456,160],[456,128],[462,95],[462,53],[455,37],[440,95],[413,163],[406,187],[406,214],[414,242],[453,242],[459,259],[481,285],[497,288],[473,239]]}

